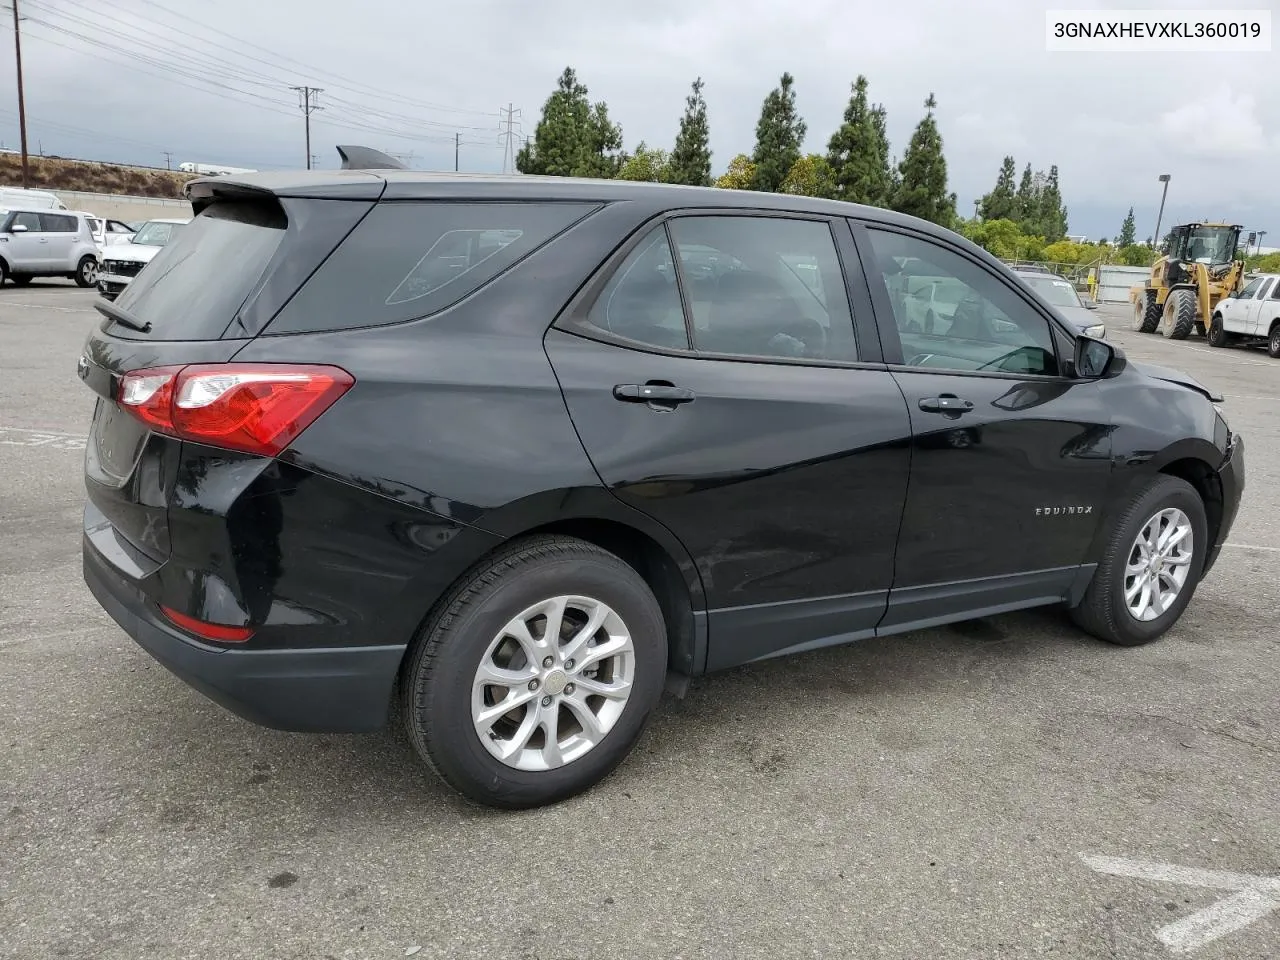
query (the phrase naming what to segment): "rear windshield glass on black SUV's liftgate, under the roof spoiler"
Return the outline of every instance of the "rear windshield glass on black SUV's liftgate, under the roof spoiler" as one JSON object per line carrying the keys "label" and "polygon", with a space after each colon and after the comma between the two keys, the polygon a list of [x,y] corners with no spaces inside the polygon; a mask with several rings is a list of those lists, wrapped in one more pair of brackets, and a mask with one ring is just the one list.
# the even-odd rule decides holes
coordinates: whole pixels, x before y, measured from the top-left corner
{"label": "rear windshield glass on black SUV's liftgate, under the roof spoiler", "polygon": [[[116,302],[151,324],[148,339],[215,340],[262,276],[285,225],[275,204],[212,204],[165,237]],[[141,334],[120,328],[119,335]]]}

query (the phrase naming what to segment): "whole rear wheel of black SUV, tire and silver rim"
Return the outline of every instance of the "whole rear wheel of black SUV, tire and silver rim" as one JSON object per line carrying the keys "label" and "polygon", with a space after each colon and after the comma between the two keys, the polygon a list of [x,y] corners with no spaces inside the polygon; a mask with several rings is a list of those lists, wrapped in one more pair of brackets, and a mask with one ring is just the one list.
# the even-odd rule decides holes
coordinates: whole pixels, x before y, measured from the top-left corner
{"label": "whole rear wheel of black SUV, tire and silver rim", "polygon": [[415,749],[463,796],[541,806],[631,753],[666,672],[666,623],[639,573],[594,544],[538,536],[499,550],[436,605],[402,713]]}

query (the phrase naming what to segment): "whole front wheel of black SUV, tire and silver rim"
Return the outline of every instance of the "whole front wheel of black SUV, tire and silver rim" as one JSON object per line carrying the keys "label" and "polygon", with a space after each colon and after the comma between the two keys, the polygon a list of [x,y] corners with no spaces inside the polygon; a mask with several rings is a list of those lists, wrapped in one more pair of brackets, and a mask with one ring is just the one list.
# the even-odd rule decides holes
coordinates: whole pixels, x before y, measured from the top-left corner
{"label": "whole front wheel of black SUV, tire and silver rim", "polygon": [[1208,552],[1196,488],[1158,476],[1115,521],[1071,620],[1100,640],[1139,646],[1164,636],[1190,603]]}

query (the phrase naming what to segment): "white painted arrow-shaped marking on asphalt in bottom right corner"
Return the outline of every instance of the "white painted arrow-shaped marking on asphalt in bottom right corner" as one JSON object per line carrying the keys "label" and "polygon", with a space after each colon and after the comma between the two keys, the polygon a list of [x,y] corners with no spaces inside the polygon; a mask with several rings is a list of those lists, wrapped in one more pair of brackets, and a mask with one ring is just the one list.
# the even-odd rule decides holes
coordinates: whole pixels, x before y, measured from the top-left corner
{"label": "white painted arrow-shaped marking on asphalt in bottom right corner", "polygon": [[1202,870],[1155,860],[1125,860],[1091,854],[1080,854],[1080,859],[1091,870],[1111,877],[1230,893],[1203,910],[1156,931],[1156,940],[1175,954],[1194,952],[1280,910],[1280,877],[1252,877],[1247,873]]}

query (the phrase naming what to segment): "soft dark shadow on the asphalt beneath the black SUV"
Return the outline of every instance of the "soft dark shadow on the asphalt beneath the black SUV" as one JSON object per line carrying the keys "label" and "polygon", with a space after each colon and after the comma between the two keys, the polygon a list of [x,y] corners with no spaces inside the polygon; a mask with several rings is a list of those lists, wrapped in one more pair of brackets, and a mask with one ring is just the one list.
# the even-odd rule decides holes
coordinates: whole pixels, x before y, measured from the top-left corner
{"label": "soft dark shadow on the asphalt beneath the black SUV", "polygon": [[[664,696],[635,753],[609,780],[567,804],[598,806],[652,794],[657,785],[669,790],[672,776],[713,776],[718,767],[728,774],[740,760],[763,774],[782,774],[804,759],[803,748],[769,744],[804,744],[829,731],[833,719],[847,727],[858,718],[861,733],[883,745],[919,746],[927,737],[904,727],[905,703],[932,700],[931,713],[938,714],[957,701],[989,703],[1010,695],[1001,691],[1019,677],[1064,663],[1076,673],[1096,663],[1102,676],[1108,654],[1111,648],[1071,628],[1061,613],[1033,611],[748,664],[694,681],[684,699]],[[161,709],[131,722],[133,739],[150,754],[140,763],[150,764],[148,792],[157,797],[216,791],[233,803],[237,819],[270,820],[283,804],[291,824],[310,824],[308,836],[353,828],[357,806],[360,819],[406,827],[512,815],[472,805],[440,783],[416,755],[396,710],[384,730],[370,735],[270,731],[150,666],[143,682],[173,689],[163,691]],[[174,826],[188,819],[192,828],[209,826],[207,810],[187,817],[172,800],[161,803],[157,817]]]}

